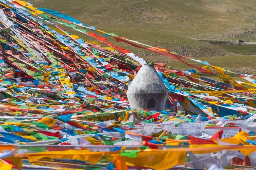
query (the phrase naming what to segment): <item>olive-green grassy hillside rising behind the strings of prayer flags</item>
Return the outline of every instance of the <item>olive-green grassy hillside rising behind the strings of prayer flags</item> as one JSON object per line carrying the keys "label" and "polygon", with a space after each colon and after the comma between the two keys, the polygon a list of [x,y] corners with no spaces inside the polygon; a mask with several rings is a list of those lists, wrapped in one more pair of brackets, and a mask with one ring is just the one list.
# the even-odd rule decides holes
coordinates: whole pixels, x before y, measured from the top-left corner
{"label": "olive-green grassy hillside rising behind the strings of prayer flags", "polygon": [[[27,0],[35,7],[70,15],[88,26],[229,69],[256,67],[255,56],[225,52],[195,39],[256,41],[256,1],[252,0]],[[69,31],[69,29],[67,29]],[[85,35],[84,38],[88,39]],[[112,41],[150,61],[172,60]],[[224,48],[225,49],[225,48]],[[251,50],[251,49],[250,49]],[[232,51],[230,51],[232,52]],[[210,57],[210,56],[213,57]],[[228,55],[228,56],[223,56]],[[168,63],[186,69],[182,63]],[[247,69],[247,70],[248,70]]]}

